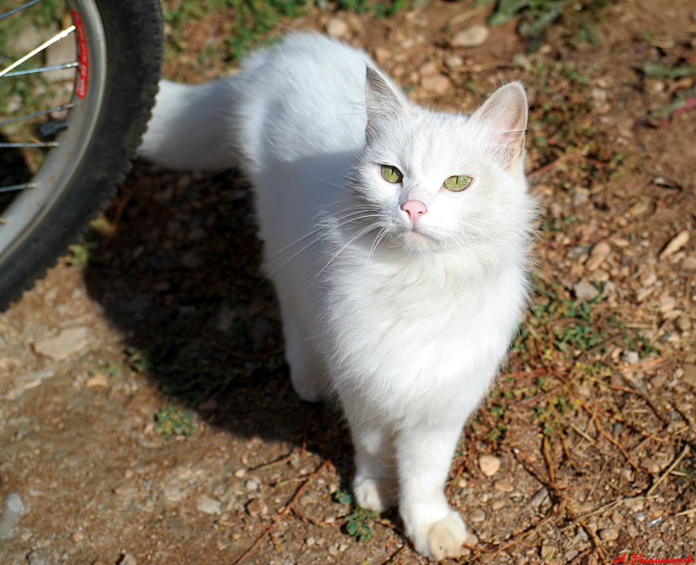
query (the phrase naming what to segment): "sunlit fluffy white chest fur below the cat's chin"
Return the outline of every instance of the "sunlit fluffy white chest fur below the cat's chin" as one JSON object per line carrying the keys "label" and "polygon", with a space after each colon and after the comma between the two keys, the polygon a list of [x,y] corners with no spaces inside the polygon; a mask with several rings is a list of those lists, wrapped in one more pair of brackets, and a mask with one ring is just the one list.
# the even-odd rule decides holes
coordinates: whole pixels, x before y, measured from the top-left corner
{"label": "sunlit fluffy white chest fur below the cat's chin", "polygon": [[338,265],[325,328],[337,386],[361,387],[388,413],[436,415],[478,399],[516,329],[526,279],[514,264],[476,267],[446,253]]}

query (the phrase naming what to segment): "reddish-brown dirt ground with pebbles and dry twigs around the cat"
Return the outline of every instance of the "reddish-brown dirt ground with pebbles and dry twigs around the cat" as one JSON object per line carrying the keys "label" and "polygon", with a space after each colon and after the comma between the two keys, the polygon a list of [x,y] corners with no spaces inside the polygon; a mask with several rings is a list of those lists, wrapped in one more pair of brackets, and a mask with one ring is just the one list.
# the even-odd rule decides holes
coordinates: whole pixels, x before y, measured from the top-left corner
{"label": "reddish-brown dirt ground with pebbles and dry twigs around the cat", "polygon": [[[527,54],[513,20],[458,47],[491,9],[288,23],[365,47],[421,104],[470,111],[506,79],[530,94],[534,305],[453,459],[448,499],[473,535],[448,562],[688,557],[696,6],[612,3],[594,44],[554,26]],[[167,73],[214,74],[196,51],[219,29],[192,27]],[[0,498],[24,506],[1,563],[427,563],[396,514],[352,505],[348,434],[293,394],[259,253],[243,178],[137,164],[0,315]]]}

